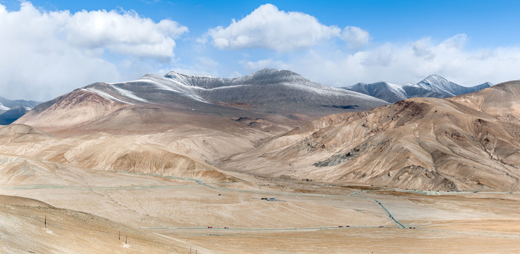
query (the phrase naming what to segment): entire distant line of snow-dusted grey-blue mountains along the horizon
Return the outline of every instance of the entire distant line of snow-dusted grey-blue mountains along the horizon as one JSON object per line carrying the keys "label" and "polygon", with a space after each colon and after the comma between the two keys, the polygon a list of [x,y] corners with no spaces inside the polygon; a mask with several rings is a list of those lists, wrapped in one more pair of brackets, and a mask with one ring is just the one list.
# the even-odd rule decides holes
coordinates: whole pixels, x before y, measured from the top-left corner
{"label": "entire distant line of snow-dusted grey-blue mountains along the horizon", "polygon": [[[461,87],[438,76],[430,75],[417,84],[394,85],[380,82],[373,84],[358,83],[351,87],[329,87],[315,83],[291,71],[265,68],[261,71],[239,78],[214,78],[200,75],[183,75],[171,71],[164,76],[147,74],[138,80],[121,83],[94,83],[73,92],[96,94],[108,99],[116,107],[152,106],[175,108],[191,113],[214,116],[243,115],[260,117],[261,114],[276,114],[295,123],[305,123],[327,114],[345,111],[363,111],[383,104],[394,103],[409,97],[449,97],[489,87],[484,83],[475,87]],[[71,95],[71,94],[68,94]],[[31,117],[51,107],[54,102],[68,95],[57,97],[49,102],[1,98],[0,124],[8,124],[32,111]],[[70,96],[69,96],[70,97]],[[81,97],[88,97],[81,95]],[[7,107],[6,107],[7,106]],[[8,111],[8,109],[13,109]],[[116,110],[114,108],[114,110]],[[3,110],[3,111],[1,111]],[[252,112],[255,112],[253,114]],[[99,113],[99,112],[98,112]],[[68,114],[75,114],[69,112]],[[97,114],[97,113],[96,113]],[[108,111],[102,116],[106,116]],[[102,116],[92,116],[97,119]],[[41,117],[41,116],[40,116]],[[64,116],[60,116],[63,119]],[[75,116],[78,119],[78,116]],[[87,119],[90,121],[92,119]],[[76,123],[71,121],[71,123]],[[252,123],[252,122],[251,122]]]}

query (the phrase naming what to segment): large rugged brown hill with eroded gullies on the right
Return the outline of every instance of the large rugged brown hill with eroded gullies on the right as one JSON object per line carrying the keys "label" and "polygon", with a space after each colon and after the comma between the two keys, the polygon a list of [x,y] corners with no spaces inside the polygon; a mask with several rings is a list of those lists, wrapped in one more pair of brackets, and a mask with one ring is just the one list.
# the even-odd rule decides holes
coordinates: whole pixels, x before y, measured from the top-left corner
{"label": "large rugged brown hill with eroded gullies on the right", "polygon": [[415,98],[296,128],[231,157],[248,173],[423,190],[519,190],[520,82]]}

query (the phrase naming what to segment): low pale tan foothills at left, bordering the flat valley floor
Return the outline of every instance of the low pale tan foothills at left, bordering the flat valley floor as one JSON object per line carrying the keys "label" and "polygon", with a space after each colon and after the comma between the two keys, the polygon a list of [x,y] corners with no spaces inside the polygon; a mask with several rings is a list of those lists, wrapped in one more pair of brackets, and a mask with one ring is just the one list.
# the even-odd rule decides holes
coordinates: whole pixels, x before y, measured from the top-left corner
{"label": "low pale tan foothills at left, bordering the flat valley floor", "polygon": [[[0,159],[5,159],[0,162],[0,167],[7,170],[4,174],[8,176],[6,181],[28,177],[28,171],[20,169],[33,162],[37,164],[35,169],[44,169],[38,174],[52,175],[61,164],[83,169],[196,178],[208,182],[236,181],[236,178],[222,170],[193,158],[195,155],[210,156],[212,151],[200,151],[199,154],[193,152],[193,156],[188,156],[176,152],[182,149],[172,149],[152,138],[157,136],[97,133],[57,138],[31,126],[3,126],[0,128],[0,141],[3,143],[0,146]],[[179,143],[183,143],[182,140]],[[190,145],[187,141],[184,144],[187,147]],[[233,152],[232,149],[229,151]],[[40,163],[40,160],[56,164]]]}

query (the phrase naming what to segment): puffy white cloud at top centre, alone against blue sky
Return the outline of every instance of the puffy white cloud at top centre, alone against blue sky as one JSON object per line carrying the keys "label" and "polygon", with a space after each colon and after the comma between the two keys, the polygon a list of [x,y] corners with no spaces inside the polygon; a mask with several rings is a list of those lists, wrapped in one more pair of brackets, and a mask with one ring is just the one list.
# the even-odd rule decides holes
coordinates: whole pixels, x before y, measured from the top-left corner
{"label": "puffy white cloud at top centre, alone against blue sky", "polygon": [[[210,29],[208,35],[218,49],[259,47],[286,52],[339,37],[340,32],[336,26],[322,25],[306,13],[279,11],[277,6],[265,4],[226,28]],[[199,41],[204,42],[204,37]]]}

